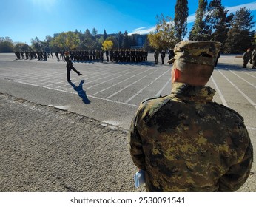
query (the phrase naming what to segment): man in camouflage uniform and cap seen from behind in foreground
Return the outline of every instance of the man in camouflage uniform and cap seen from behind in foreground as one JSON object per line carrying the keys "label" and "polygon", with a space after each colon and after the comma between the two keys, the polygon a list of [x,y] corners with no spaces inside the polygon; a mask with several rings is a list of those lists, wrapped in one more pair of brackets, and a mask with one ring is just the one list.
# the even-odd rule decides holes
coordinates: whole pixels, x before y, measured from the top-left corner
{"label": "man in camouflage uniform and cap seen from behind in foreground", "polygon": [[139,106],[129,150],[144,170],[146,191],[236,191],[246,182],[253,149],[243,118],[212,101],[209,81],[219,42],[181,41],[172,92]]}

